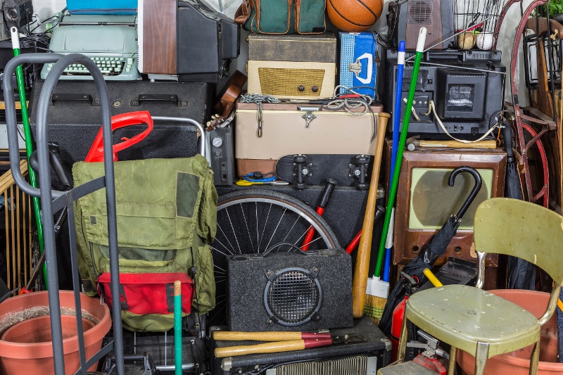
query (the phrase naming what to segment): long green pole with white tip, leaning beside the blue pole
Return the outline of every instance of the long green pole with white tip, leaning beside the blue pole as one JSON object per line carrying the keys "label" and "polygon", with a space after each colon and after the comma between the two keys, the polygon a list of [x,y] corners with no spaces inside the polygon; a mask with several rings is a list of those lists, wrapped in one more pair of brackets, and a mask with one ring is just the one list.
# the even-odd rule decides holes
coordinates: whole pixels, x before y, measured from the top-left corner
{"label": "long green pole with white tip, leaning beside the blue pole", "polygon": [[[381,231],[381,233],[388,232],[389,223],[391,222],[391,212],[393,212],[393,205],[395,204],[397,185],[399,184],[400,165],[403,162],[403,151],[405,149],[405,142],[407,141],[407,130],[409,128],[412,101],[415,98],[415,90],[417,89],[418,71],[420,68],[420,61],[422,60],[422,51],[424,51],[425,42],[426,42],[426,27],[421,27],[418,34],[415,66],[412,68],[412,77],[410,78],[409,96],[407,98],[407,106],[405,108],[403,129],[401,129],[400,131],[399,147],[397,150],[397,158],[395,162],[395,172],[393,173],[393,181],[391,182],[391,189],[389,189],[387,209],[385,211],[385,221],[383,224],[383,231]],[[377,263],[375,265],[374,277],[381,277],[381,265],[383,265],[386,240],[387,240],[387,236],[381,236],[381,241],[379,241],[379,251],[377,252]]]}

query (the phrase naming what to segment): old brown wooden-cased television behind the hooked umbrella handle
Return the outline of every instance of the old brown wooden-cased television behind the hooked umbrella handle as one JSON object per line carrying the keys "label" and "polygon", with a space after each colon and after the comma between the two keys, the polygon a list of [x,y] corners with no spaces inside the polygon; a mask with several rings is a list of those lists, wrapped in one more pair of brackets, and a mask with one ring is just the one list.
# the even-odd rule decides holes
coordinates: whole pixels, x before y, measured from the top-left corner
{"label": "old brown wooden-cased television behind the hooked umbrella handle", "polygon": [[[448,186],[450,172],[462,165],[474,167],[481,174],[483,185],[436,265],[447,262],[448,257],[476,261],[472,249],[475,210],[486,199],[503,195],[506,153],[500,149],[424,148],[403,154],[393,241],[396,265],[405,265],[415,258],[466,200],[474,186],[470,174],[458,174],[454,186]],[[498,255],[487,255],[486,265],[498,265]]]}

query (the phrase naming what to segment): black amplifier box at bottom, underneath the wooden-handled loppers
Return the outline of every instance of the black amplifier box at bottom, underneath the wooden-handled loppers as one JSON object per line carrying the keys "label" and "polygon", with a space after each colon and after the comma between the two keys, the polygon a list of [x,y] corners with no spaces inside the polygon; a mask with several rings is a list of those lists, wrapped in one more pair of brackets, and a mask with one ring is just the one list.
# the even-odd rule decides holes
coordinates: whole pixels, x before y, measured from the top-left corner
{"label": "black amplifier box at bottom, underneath the wooden-handled loppers", "polygon": [[[213,326],[210,328],[211,352],[215,348],[226,346],[253,345],[257,341],[215,341],[213,333],[224,331],[227,327]],[[279,352],[270,354],[240,355],[237,357],[216,358],[211,364],[213,374],[358,374],[374,375],[377,369],[391,362],[391,341],[381,332],[374,322],[365,316],[354,319],[353,327],[344,329],[331,329],[336,335],[355,335],[366,338],[365,343],[348,343],[331,345],[325,348],[296,350],[293,352]],[[367,362],[376,362],[377,368],[370,365],[370,371],[360,372],[356,356],[366,356]],[[319,371],[319,363],[332,362],[333,371]],[[356,365],[355,365],[356,364]],[[317,371],[315,371],[315,368]],[[339,369],[340,371],[337,371]]]}

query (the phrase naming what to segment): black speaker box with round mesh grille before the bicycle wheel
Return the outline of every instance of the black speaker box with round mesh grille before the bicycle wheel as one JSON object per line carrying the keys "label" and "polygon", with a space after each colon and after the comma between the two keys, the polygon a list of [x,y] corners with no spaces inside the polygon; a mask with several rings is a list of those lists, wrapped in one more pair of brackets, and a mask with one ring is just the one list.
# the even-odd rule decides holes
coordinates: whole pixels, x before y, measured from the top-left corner
{"label": "black speaker box with round mesh grille before the bicycle wheel", "polygon": [[227,258],[232,331],[308,331],[353,325],[352,264],[343,250]]}

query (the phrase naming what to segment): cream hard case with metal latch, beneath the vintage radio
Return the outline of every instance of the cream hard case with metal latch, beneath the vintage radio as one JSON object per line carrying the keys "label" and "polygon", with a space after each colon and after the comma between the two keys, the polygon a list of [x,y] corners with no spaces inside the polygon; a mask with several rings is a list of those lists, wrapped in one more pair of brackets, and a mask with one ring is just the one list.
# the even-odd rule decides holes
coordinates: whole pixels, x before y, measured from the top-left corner
{"label": "cream hard case with metal latch, beneath the vintage radio", "polygon": [[[383,107],[372,110],[381,113]],[[239,176],[275,171],[280,158],[298,153],[374,155],[378,119],[369,111],[352,115],[308,103],[263,103],[261,118],[256,103],[236,103],[234,153]]]}

